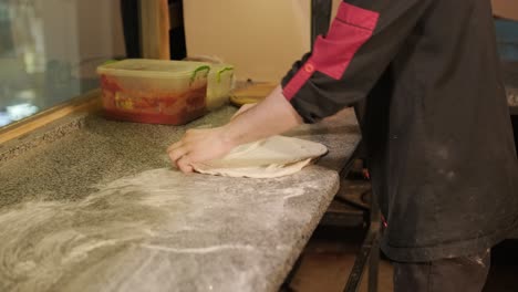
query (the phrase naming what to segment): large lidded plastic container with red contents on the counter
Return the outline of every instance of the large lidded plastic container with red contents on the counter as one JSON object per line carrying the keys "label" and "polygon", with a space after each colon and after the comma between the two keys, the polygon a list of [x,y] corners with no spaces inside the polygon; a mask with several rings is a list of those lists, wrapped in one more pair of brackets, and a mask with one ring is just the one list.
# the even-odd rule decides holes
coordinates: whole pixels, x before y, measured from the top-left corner
{"label": "large lidded plastic container with red contents on the counter", "polygon": [[182,125],[207,111],[210,66],[201,62],[128,59],[97,67],[107,117]]}

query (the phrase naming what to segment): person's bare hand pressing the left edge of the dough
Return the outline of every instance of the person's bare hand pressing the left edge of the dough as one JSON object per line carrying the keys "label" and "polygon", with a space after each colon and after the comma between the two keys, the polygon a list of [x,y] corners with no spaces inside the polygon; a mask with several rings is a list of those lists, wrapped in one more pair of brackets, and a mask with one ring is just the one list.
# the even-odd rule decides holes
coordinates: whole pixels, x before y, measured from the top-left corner
{"label": "person's bare hand pressing the left edge of the dough", "polygon": [[193,163],[220,158],[232,147],[222,127],[188,129],[179,142],[167,148],[167,154],[183,173],[193,173]]}

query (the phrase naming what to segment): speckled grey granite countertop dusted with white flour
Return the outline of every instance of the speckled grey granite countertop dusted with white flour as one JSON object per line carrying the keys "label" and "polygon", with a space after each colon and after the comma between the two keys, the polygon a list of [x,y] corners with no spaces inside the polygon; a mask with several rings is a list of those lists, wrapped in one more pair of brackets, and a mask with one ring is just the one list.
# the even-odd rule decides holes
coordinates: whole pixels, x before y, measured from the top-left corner
{"label": "speckled grey granite countertop dusted with white flour", "polygon": [[354,113],[292,131],[330,153],[274,179],[172,169],[186,128],[90,114],[0,145],[0,291],[277,291],[361,139]]}

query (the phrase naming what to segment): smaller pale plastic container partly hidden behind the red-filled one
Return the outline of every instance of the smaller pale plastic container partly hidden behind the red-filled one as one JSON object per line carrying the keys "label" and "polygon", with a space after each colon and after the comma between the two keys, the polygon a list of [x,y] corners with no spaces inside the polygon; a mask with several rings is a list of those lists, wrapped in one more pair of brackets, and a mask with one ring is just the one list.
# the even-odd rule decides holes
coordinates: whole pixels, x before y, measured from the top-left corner
{"label": "smaller pale plastic container partly hidden behind the red-filled one", "polygon": [[234,86],[234,66],[210,64],[207,85],[207,108],[216,109],[228,103]]}

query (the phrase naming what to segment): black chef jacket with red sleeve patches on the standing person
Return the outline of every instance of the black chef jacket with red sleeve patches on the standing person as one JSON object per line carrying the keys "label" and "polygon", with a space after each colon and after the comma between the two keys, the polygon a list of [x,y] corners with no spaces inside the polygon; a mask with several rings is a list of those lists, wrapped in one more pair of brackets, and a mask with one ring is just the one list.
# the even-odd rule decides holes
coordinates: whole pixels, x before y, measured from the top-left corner
{"label": "black chef jacket with red sleeve patches on the standing person", "polygon": [[282,80],[308,123],[366,97],[362,132],[396,261],[485,250],[518,223],[518,160],[488,0],[344,1]]}

